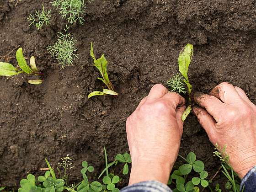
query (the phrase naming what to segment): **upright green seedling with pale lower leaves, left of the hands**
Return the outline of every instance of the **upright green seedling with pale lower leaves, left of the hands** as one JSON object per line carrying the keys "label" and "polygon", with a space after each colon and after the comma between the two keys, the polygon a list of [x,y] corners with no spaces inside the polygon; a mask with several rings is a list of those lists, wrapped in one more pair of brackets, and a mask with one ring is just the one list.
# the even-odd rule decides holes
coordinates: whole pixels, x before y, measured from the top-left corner
{"label": "upright green seedling with pale lower leaves, left of the hands", "polygon": [[92,96],[105,96],[105,95],[112,95],[117,96],[118,93],[114,91],[113,85],[108,79],[107,75],[107,59],[104,57],[104,54],[102,54],[101,58],[96,59],[92,42],[91,42],[91,57],[93,59],[94,66],[100,71],[102,78],[98,77],[97,79],[101,80],[105,85],[107,85],[108,89],[103,89],[103,91],[93,91],[88,95],[88,99]]}

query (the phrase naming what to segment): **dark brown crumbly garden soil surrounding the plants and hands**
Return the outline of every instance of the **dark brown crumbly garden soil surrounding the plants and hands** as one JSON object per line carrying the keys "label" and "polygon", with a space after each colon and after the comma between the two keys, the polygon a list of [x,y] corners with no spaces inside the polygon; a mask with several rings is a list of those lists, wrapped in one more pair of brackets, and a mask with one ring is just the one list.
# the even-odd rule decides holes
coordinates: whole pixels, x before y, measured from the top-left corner
{"label": "dark brown crumbly garden soil surrounding the plants and hands", "polygon": [[[128,151],[126,118],[152,82],[165,83],[177,72],[179,51],[187,43],[194,45],[190,80],[198,91],[229,81],[256,103],[255,0],[88,2],[85,24],[70,29],[80,59],[63,70],[45,50],[66,25],[50,1],[22,0],[15,7],[16,0],[0,0],[0,56],[20,45],[45,74],[42,85],[29,85],[26,75],[0,77],[0,186],[17,189],[29,172],[42,174],[44,157],[56,167],[69,154],[77,165],[70,179],[79,181],[82,160],[102,170],[103,146],[110,160]],[[42,3],[53,18],[38,32],[26,18]],[[116,99],[87,100],[91,91],[103,88],[90,58],[91,41],[96,56],[105,53],[109,61],[110,79],[120,93]],[[205,162],[209,176],[218,170],[213,145],[193,115],[185,122],[180,153],[189,151]],[[224,188],[224,177],[217,181]]]}

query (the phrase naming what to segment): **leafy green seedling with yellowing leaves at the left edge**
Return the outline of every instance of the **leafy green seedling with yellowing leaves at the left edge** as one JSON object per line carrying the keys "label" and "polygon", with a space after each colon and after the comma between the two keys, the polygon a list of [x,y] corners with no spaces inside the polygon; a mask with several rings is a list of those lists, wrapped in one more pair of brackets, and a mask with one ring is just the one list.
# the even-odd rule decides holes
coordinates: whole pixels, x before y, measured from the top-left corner
{"label": "leafy green seedling with yellowing leaves at the left edge", "polygon": [[[15,68],[12,64],[0,62],[0,76],[12,76],[21,73],[26,73],[29,75],[43,75],[37,69],[35,58],[32,56],[30,58],[30,67],[23,56],[22,48],[19,48],[16,52],[16,59],[21,70]],[[43,82],[43,80],[28,80],[30,84],[38,85]]]}

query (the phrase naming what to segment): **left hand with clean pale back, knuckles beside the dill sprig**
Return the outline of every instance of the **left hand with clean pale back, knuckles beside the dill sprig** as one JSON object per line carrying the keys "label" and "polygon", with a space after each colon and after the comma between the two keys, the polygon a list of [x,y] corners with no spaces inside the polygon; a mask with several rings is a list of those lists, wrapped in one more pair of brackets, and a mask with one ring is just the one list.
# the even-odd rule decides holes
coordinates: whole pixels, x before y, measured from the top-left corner
{"label": "left hand with clean pale back, knuckles beside the dill sprig", "polygon": [[132,158],[129,185],[156,180],[167,183],[176,161],[183,131],[185,99],[154,85],[126,121]]}

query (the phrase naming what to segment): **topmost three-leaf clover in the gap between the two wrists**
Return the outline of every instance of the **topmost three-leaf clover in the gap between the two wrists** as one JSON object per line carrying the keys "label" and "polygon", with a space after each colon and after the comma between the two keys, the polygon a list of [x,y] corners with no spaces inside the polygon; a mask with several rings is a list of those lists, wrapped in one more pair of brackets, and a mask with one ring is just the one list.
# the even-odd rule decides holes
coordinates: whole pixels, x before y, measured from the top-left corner
{"label": "topmost three-leaf clover in the gap between the two wrists", "polygon": [[196,160],[196,155],[193,152],[190,152],[187,155],[187,162],[184,165],[181,165],[179,171],[182,175],[187,175],[192,171],[192,168],[197,173],[200,173],[204,170],[204,164],[201,160]]}

